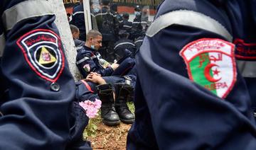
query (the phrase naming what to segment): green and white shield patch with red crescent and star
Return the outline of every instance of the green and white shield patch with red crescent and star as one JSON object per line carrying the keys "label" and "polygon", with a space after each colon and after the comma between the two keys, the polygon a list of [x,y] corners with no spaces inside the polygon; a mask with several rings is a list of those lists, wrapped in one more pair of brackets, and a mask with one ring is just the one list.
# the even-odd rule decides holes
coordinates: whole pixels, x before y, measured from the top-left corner
{"label": "green and white shield patch with red crescent and star", "polygon": [[234,52],[235,46],[230,42],[203,38],[183,47],[180,55],[186,63],[189,79],[225,98],[237,76]]}

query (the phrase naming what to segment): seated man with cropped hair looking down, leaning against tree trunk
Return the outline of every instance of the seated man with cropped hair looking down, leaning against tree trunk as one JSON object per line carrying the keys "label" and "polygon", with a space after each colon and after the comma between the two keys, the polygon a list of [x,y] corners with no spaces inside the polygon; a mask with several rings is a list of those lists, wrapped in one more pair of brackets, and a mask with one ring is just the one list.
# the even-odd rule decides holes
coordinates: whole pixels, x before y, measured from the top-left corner
{"label": "seated man with cropped hair looking down, leaning against tree trunk", "polygon": [[[135,60],[130,57],[131,52],[124,49],[118,50],[116,52],[118,62],[106,66],[106,61],[102,59],[100,53],[97,52],[101,47],[101,41],[102,35],[97,30],[90,30],[89,33],[87,33],[87,41],[85,42],[85,45],[78,50],[76,64],[83,78],[86,78],[90,72],[96,72],[101,76],[126,75],[135,64]],[[118,55],[120,56],[118,57]]]}

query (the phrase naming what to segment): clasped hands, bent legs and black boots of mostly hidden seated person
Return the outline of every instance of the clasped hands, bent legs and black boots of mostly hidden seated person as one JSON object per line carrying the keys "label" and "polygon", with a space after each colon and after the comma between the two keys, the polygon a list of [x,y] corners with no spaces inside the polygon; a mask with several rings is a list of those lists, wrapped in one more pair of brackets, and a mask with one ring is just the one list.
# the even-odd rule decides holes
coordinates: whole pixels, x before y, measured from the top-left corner
{"label": "clasped hands, bent legs and black boots of mostly hidden seated person", "polygon": [[[127,106],[127,99],[133,94],[135,86],[136,77],[134,75],[102,77],[92,72],[85,80],[88,81],[87,85],[91,85],[93,91],[96,90],[92,83],[100,85],[96,88],[97,94],[102,100],[101,116],[106,125],[118,125],[120,120],[124,123],[134,122],[134,115]],[[112,86],[115,91],[114,98]]]}

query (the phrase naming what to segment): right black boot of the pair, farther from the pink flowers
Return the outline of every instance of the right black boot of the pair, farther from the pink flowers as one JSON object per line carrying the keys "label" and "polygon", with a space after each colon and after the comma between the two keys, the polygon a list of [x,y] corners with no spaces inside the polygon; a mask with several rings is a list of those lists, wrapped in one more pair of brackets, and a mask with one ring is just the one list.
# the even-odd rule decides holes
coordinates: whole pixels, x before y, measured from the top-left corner
{"label": "right black boot of the pair, farther from the pink flowers", "polygon": [[134,122],[135,117],[127,106],[127,96],[133,91],[132,86],[127,84],[115,84],[114,86],[116,90],[114,108],[116,108],[120,120],[124,123]]}

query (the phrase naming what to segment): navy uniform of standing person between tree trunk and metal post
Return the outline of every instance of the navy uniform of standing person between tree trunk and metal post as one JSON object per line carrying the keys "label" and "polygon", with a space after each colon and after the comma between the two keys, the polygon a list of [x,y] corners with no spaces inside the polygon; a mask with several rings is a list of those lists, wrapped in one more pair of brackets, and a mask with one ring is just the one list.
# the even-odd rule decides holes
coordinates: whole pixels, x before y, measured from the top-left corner
{"label": "navy uniform of standing person between tree trunk and metal post", "polygon": [[77,26],[80,30],[79,40],[86,40],[86,30],[85,30],[85,14],[83,4],[75,6],[73,8],[72,20],[70,24]]}

